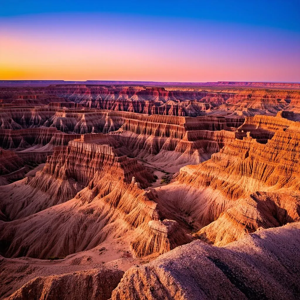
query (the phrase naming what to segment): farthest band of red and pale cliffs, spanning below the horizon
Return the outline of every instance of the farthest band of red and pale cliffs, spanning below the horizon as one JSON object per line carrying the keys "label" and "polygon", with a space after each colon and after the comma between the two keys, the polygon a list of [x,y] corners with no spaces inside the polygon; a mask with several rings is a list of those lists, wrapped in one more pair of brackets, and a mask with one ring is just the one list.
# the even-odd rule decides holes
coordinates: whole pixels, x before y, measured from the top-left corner
{"label": "farthest band of red and pale cliffs, spanning below the horizon", "polygon": [[[256,87],[258,85],[258,87]],[[125,85],[49,85],[40,88],[0,88],[0,107],[16,105],[46,105],[51,102],[72,102],[67,107],[80,106],[102,110],[127,111],[170,116],[202,116],[206,114],[276,114],[279,110],[298,110],[299,91],[266,89],[259,83],[234,83],[214,91],[213,85],[201,87],[146,87]],[[238,86],[238,85],[237,85]],[[270,84],[270,87],[277,85]],[[246,87],[246,88],[245,88]],[[261,88],[260,88],[261,87]],[[294,88],[294,85],[291,85]],[[277,86],[277,88],[280,88]],[[300,88],[299,88],[300,89]],[[2,99],[1,99],[2,98]],[[2,104],[1,104],[2,102]],[[53,107],[53,105],[51,104]]]}

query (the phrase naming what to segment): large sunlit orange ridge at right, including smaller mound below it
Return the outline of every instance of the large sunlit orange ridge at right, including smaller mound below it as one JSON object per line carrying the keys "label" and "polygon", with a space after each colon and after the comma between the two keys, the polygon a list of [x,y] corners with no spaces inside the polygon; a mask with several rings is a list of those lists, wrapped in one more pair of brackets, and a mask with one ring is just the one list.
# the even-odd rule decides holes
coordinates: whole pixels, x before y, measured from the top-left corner
{"label": "large sunlit orange ridge at right, including smaller mound below it", "polygon": [[[258,117],[253,119],[255,121]],[[265,119],[268,122],[264,119],[262,117],[259,123],[275,130],[278,118],[268,117]],[[273,122],[269,122],[272,119]],[[215,244],[226,244],[258,227],[281,226],[291,220],[297,221],[300,211],[300,157],[296,149],[300,131],[296,122],[282,119],[283,124],[286,122],[290,126],[275,131],[266,144],[258,143],[249,132],[247,137],[227,143],[210,160],[183,167],[176,182],[158,189],[158,198],[163,202],[172,199],[170,207],[173,211],[186,211],[189,216],[186,221],[193,222],[193,230],[206,226],[199,231],[199,235]],[[256,191],[267,194],[255,196],[253,193]],[[269,193],[274,191],[279,194],[274,196]],[[288,206],[283,204],[285,198],[289,199]],[[272,219],[270,215],[277,215],[275,208],[292,217]],[[175,214],[174,217],[182,222]],[[226,231],[226,238],[220,226]]]}

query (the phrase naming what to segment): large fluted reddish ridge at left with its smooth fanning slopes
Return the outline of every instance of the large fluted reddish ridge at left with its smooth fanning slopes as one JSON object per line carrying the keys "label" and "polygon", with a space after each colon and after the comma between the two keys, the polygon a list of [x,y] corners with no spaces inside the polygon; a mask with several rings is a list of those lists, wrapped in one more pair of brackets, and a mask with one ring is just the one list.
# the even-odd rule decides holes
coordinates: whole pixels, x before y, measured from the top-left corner
{"label": "large fluted reddish ridge at left with its smooth fanning slopes", "polygon": [[[1,188],[2,195],[13,191],[14,198],[2,202],[2,212],[17,219],[0,226],[1,253],[66,256],[127,234],[134,255],[140,256],[164,253],[191,240],[184,231],[180,238],[174,237],[175,221],[158,227],[150,222],[161,218],[158,201],[155,193],[141,187],[149,186],[153,175],[136,159],[98,144],[103,138],[96,134],[70,141],[48,158],[33,179],[17,182],[13,189]],[[140,234],[145,230],[150,233],[148,240]],[[36,234],[44,238],[36,240]]]}

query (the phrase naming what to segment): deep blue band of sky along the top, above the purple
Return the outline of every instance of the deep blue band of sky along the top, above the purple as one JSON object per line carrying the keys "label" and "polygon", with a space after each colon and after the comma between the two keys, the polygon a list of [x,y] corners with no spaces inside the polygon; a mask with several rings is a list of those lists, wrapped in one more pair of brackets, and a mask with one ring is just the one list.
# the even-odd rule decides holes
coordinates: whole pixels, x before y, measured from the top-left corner
{"label": "deep blue band of sky along the top, above the purple", "polygon": [[0,16],[109,12],[233,22],[300,31],[300,1],[78,1],[1,0]]}

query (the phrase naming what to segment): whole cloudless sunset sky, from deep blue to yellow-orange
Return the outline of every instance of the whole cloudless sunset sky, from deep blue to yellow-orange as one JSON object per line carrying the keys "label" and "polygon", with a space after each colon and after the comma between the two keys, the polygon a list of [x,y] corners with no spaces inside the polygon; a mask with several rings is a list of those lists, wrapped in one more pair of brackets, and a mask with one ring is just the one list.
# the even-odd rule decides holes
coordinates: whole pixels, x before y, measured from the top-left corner
{"label": "whole cloudless sunset sky, from deep blue to yellow-orange", "polygon": [[299,0],[0,2],[0,80],[300,82]]}

